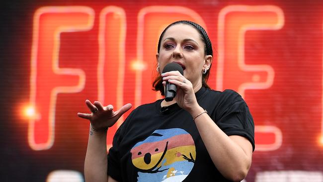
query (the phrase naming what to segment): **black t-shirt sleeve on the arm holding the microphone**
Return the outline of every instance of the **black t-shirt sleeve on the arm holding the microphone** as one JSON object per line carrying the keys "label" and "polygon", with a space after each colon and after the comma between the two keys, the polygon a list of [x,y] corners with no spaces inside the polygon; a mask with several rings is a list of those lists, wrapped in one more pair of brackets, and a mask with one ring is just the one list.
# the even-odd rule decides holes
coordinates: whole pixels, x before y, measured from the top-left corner
{"label": "black t-shirt sleeve on the arm holding the microphone", "polygon": [[254,123],[249,108],[236,91],[225,90],[219,100],[215,121],[228,136],[239,135],[248,139],[254,151]]}

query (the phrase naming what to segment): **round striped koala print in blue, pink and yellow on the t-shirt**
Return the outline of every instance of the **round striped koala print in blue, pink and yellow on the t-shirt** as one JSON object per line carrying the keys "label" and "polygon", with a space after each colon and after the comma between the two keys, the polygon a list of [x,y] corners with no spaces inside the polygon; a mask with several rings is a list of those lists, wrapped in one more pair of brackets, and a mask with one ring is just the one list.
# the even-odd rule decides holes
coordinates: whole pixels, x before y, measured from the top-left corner
{"label": "round striped koala print in blue, pink and yellow on the t-shirt", "polygon": [[130,152],[142,182],[171,178],[177,172],[185,179],[196,158],[192,136],[180,128],[156,130]]}

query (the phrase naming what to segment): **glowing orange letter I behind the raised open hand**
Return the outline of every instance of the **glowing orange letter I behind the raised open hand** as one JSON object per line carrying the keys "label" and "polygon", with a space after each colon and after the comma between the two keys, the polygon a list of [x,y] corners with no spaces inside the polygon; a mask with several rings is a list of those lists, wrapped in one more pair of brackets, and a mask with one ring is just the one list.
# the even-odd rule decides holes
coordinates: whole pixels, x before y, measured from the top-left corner
{"label": "glowing orange letter I behind the raised open hand", "polygon": [[[123,105],[126,30],[126,14],[122,8],[108,6],[102,9],[98,37],[98,100],[102,103],[108,102],[115,108],[120,108]],[[121,116],[116,126],[109,129],[107,135],[108,148],[111,147],[113,135],[123,119],[123,116]]]}

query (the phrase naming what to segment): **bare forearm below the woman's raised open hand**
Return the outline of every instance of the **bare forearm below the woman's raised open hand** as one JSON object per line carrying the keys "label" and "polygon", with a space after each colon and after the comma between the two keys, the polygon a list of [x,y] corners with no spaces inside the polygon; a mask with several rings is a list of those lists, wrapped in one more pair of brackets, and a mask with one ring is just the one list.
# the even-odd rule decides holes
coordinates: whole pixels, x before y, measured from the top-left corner
{"label": "bare forearm below the woman's raised open hand", "polygon": [[106,132],[90,129],[84,162],[86,182],[107,182]]}

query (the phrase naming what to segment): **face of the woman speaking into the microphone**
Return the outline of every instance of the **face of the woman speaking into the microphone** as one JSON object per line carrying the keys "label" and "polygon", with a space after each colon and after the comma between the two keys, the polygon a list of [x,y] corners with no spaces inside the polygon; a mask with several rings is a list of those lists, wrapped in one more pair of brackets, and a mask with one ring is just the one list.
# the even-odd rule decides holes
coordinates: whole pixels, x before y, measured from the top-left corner
{"label": "face of the woman speaking into the microphone", "polygon": [[202,85],[203,65],[206,63],[205,44],[201,35],[188,24],[175,24],[169,27],[161,38],[161,48],[157,61],[161,68],[171,62],[183,67],[184,77],[191,81],[193,87]]}

